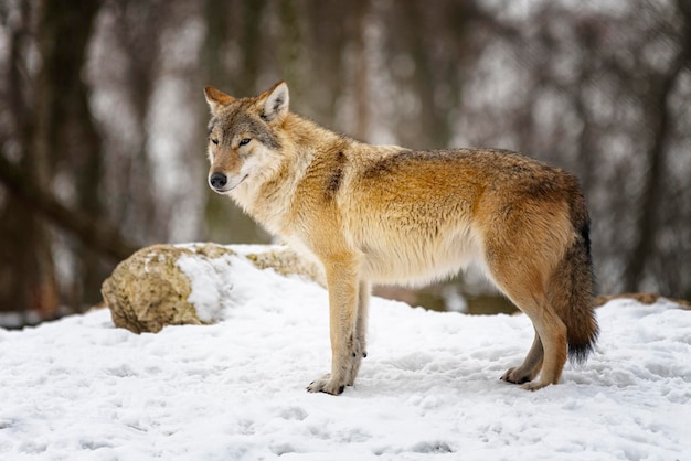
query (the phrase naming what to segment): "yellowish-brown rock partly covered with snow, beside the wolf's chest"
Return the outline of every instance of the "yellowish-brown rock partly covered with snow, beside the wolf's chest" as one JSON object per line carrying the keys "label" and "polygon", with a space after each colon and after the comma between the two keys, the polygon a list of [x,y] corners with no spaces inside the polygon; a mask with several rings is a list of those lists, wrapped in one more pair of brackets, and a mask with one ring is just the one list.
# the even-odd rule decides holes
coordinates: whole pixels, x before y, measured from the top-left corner
{"label": "yellowish-brown rock partly covered with snow, beside the wolf's chest", "polygon": [[100,291],[113,322],[135,333],[157,333],[166,325],[219,321],[232,303],[231,257],[323,285],[320,267],[285,246],[155,245],[121,261],[104,281]]}

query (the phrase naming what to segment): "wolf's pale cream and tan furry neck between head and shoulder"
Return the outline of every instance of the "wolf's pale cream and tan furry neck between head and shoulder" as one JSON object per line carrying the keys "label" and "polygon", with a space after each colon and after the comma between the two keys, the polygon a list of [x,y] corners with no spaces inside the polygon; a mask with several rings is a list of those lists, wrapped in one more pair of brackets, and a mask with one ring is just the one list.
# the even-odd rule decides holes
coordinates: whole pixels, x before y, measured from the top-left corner
{"label": "wolf's pale cream and tan furry neck between head and shoulder", "polygon": [[232,196],[272,234],[289,238],[284,223],[293,212],[298,184],[315,158],[342,137],[296,114],[288,114],[276,136],[281,153],[275,167],[258,181],[242,184]]}

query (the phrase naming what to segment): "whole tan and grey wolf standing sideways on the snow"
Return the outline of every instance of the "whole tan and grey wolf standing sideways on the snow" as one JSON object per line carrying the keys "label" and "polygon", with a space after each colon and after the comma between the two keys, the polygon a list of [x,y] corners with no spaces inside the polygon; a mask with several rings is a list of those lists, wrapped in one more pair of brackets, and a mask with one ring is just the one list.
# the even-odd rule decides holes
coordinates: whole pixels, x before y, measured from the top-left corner
{"label": "whole tan and grey wolf standing sideways on the snow", "polygon": [[[471,261],[533,322],[502,379],[556,384],[597,336],[588,215],[574,176],[496,149],[370,146],[289,111],[288,87],[235,99],[206,87],[210,185],[325,268],[340,394],[366,355],[370,283],[418,285]],[[536,382],[533,379],[540,375]]]}

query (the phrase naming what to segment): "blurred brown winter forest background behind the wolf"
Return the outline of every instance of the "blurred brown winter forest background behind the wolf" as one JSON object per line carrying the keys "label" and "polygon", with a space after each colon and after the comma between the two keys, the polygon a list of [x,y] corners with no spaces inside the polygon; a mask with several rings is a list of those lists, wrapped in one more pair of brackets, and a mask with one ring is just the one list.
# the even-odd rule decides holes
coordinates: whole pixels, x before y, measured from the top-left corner
{"label": "blurred brown winter forest background behind the wolf", "polygon": [[279,79],[369,142],[577,174],[598,292],[691,298],[691,0],[0,0],[0,311],[86,309],[145,245],[269,242],[206,186],[202,88]]}

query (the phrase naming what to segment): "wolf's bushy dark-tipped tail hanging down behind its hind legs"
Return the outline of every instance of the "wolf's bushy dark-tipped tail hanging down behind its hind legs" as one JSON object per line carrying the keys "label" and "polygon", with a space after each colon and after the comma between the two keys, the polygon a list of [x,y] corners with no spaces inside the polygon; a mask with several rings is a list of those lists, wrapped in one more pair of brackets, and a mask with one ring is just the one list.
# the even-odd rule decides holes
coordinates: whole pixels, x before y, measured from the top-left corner
{"label": "wolf's bushy dark-tipped tail hanging down behind its hind legs", "polygon": [[570,203],[571,222],[576,238],[556,266],[550,280],[549,298],[566,325],[568,358],[584,363],[599,333],[593,305],[593,259],[591,257],[589,217],[585,199],[576,189]]}

